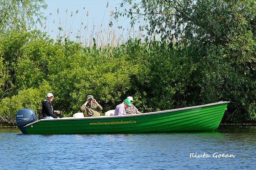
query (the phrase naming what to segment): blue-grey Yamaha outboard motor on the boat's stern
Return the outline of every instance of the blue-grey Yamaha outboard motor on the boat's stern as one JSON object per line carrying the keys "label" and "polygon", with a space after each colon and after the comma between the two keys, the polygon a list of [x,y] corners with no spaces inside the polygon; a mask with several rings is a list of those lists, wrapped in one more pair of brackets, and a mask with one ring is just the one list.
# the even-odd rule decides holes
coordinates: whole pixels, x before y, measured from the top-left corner
{"label": "blue-grey Yamaha outboard motor on the boat's stern", "polygon": [[16,125],[23,134],[27,134],[27,131],[23,126],[36,121],[36,114],[32,109],[20,109],[16,113]]}

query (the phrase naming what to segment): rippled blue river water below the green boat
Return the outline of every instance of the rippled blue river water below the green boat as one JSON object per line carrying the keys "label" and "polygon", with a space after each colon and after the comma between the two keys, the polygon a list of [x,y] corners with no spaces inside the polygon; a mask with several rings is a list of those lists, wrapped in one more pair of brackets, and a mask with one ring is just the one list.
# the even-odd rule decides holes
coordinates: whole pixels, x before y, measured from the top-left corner
{"label": "rippled blue river water below the green boat", "polygon": [[15,128],[4,128],[0,170],[255,169],[255,133],[255,125],[220,126],[216,132],[126,135],[22,135]]}

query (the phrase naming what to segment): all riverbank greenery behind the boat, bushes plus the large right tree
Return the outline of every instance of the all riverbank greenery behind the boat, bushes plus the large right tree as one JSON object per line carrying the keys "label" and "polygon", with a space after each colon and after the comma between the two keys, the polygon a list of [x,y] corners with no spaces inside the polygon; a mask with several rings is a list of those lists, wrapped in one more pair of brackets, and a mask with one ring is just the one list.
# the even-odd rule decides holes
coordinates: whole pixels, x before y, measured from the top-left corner
{"label": "all riverbank greenery behind the boat, bushes plus the large right tree", "polygon": [[2,29],[1,125],[14,125],[21,108],[40,114],[48,92],[63,117],[80,112],[87,95],[102,114],[133,96],[141,112],[230,101],[222,123],[256,123],[255,0],[142,0],[120,7],[116,18],[145,21],[144,39],[98,47],[91,38],[94,44],[83,46],[39,30]]}

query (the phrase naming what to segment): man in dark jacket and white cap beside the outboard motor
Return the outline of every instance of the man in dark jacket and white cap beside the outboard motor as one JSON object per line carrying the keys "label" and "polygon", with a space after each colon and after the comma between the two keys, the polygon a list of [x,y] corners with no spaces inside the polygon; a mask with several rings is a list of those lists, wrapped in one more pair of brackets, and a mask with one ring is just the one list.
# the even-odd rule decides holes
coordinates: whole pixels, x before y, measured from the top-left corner
{"label": "man in dark jacket and white cap beside the outboard motor", "polygon": [[43,118],[44,119],[59,118],[55,114],[60,114],[60,111],[54,111],[53,110],[52,101],[53,101],[53,94],[52,93],[48,93],[46,95],[46,100],[42,101],[42,113],[43,113]]}

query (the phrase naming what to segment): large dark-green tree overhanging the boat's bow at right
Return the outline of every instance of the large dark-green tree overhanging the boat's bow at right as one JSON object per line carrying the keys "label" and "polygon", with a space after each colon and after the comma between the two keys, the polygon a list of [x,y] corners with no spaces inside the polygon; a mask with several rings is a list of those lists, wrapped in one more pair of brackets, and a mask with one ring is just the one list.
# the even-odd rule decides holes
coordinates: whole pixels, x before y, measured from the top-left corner
{"label": "large dark-green tree overhanging the boat's bow at right", "polygon": [[255,119],[256,0],[123,0],[116,9],[115,18],[139,24],[146,40],[160,35],[188,51],[197,65],[189,103],[228,100],[226,121]]}

